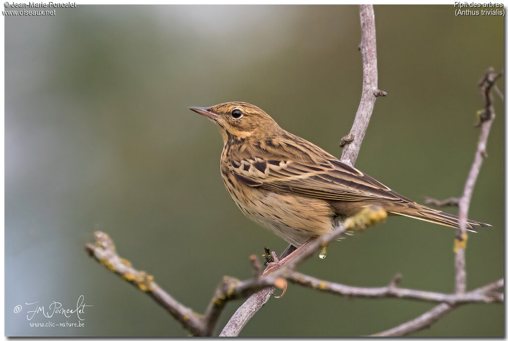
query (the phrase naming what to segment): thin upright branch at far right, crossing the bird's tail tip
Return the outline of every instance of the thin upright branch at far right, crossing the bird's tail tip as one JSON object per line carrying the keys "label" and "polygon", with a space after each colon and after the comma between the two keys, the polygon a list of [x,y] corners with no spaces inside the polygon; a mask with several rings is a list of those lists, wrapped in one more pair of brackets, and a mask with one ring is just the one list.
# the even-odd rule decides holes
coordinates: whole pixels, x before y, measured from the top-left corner
{"label": "thin upright branch at far right, crossing the bird's tail tip", "polygon": [[495,113],[493,106],[493,98],[491,89],[495,81],[501,77],[502,73],[494,72],[491,67],[485,73],[485,76],[480,80],[480,92],[485,102],[485,109],[480,111],[481,133],[478,139],[478,147],[474,153],[474,160],[469,170],[466,183],[464,185],[464,192],[459,200],[459,230],[455,236],[455,291],[463,293],[466,291],[466,261],[465,261],[465,248],[467,241],[467,214],[469,211],[469,204],[471,203],[471,196],[473,193],[474,185],[480,173],[483,159],[487,157],[487,139],[489,137],[492,121],[494,121]]}

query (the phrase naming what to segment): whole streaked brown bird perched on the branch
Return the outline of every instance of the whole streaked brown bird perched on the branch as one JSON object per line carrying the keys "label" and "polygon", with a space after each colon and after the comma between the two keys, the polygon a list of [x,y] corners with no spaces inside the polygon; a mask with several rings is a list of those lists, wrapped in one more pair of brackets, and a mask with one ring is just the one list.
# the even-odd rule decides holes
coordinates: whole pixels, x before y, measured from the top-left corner
{"label": "whole streaked brown bird perched on the branch", "polygon": [[[247,217],[294,246],[331,232],[337,219],[370,205],[458,228],[456,215],[401,196],[282,128],[262,109],[245,102],[189,107],[219,127],[224,139],[220,173]],[[490,226],[467,220],[467,228]]]}

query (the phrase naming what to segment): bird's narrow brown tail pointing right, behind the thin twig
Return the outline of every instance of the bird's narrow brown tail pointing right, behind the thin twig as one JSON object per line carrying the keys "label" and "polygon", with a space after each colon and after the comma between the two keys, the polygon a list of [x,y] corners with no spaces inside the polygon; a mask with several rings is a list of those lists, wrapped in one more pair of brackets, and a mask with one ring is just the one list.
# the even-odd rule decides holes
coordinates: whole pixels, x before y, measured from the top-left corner
{"label": "bird's narrow brown tail pointing right, behind the thin twig", "polygon": [[[447,212],[435,210],[433,208],[423,206],[417,203],[407,203],[406,205],[397,205],[393,207],[393,209],[390,207],[387,209],[388,213],[395,214],[395,215],[404,215],[406,217],[425,220],[429,222],[433,222],[435,224],[440,224],[444,226],[450,226],[451,228],[458,229],[459,228],[459,217],[450,214]],[[474,226],[485,226],[490,227],[492,225],[486,224],[480,221],[467,219],[467,230],[472,232],[477,232],[474,229]]]}

